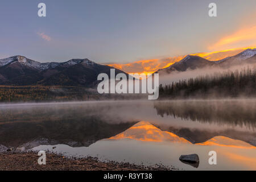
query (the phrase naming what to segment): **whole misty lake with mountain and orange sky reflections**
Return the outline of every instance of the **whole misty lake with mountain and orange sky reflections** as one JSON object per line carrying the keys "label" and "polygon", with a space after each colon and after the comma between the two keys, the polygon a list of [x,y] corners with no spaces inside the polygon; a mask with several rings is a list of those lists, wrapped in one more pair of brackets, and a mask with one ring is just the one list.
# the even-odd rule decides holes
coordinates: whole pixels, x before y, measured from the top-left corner
{"label": "whole misty lake with mountain and orange sky reflections", "polygon": [[181,170],[256,170],[255,129],[254,99],[0,105],[3,146]]}

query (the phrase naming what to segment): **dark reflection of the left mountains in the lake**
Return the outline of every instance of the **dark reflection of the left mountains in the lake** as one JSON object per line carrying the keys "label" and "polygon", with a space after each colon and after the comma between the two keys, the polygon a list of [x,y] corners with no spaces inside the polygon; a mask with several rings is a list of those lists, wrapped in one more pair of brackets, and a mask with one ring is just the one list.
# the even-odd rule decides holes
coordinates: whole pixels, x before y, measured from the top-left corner
{"label": "dark reflection of the left mountains in the lake", "polygon": [[31,142],[26,145],[35,147],[63,143],[73,147],[89,146],[97,140],[121,133],[134,124],[107,123],[97,117],[52,119],[39,117],[28,122],[0,123],[0,144],[11,147]]}

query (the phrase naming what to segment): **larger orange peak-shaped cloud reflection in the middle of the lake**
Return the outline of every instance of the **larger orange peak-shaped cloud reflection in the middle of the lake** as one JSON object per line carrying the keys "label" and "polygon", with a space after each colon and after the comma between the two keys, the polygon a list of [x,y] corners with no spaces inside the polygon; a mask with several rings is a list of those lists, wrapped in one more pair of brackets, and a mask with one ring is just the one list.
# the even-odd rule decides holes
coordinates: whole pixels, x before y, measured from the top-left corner
{"label": "larger orange peak-shaped cloud reflection in the middle of the lake", "polygon": [[174,133],[168,131],[161,131],[149,122],[139,122],[134,126],[130,127],[123,133],[115,135],[109,139],[135,139],[142,141],[152,141],[152,142],[178,142],[178,143],[190,143],[188,140],[178,137]]}

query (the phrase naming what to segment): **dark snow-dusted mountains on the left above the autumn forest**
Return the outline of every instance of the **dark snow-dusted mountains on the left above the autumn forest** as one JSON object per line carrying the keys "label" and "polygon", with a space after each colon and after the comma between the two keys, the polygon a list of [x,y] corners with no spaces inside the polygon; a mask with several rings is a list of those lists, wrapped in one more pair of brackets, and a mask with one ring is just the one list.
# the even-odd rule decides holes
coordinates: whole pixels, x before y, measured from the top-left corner
{"label": "dark snow-dusted mountains on the left above the autumn forest", "polygon": [[[108,65],[88,59],[72,59],[64,63],[39,63],[24,56],[0,60],[0,85],[65,85],[91,87],[97,84],[97,76],[106,73]],[[125,73],[115,69],[115,74]],[[125,73],[127,75],[127,73]]]}

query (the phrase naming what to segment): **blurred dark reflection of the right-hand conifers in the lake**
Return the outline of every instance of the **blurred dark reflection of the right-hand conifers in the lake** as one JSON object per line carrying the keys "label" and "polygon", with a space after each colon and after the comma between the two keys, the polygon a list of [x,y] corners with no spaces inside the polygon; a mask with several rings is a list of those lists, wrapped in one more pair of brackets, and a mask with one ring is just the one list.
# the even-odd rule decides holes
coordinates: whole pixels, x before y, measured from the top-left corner
{"label": "blurred dark reflection of the right-hand conifers in the lake", "polygon": [[155,102],[158,115],[164,114],[199,122],[256,126],[255,100],[208,100]]}

